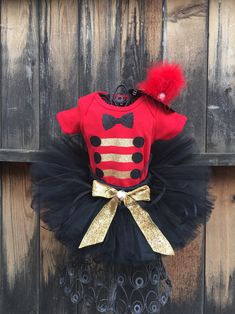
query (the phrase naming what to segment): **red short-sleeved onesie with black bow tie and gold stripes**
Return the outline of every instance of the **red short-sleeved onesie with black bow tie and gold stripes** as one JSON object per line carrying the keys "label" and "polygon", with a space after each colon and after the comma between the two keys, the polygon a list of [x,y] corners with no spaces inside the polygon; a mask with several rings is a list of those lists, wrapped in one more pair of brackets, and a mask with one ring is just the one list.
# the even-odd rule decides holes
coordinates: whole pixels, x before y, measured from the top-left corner
{"label": "red short-sleeved onesie with black bow tie and gold stripes", "polygon": [[179,134],[187,117],[167,110],[146,95],[126,107],[110,105],[96,91],[77,107],[57,113],[66,134],[82,133],[92,172],[106,183],[129,187],[148,173],[151,145]]}

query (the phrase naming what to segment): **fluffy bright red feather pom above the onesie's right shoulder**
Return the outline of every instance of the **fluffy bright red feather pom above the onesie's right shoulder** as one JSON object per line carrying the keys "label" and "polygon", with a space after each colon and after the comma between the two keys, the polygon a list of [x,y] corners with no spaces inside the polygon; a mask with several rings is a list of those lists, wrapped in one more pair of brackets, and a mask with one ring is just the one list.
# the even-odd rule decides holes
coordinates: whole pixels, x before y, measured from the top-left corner
{"label": "fluffy bright red feather pom above the onesie's right shoulder", "polygon": [[170,102],[180,94],[185,84],[181,66],[164,61],[149,68],[146,79],[140,82],[137,88],[169,106]]}

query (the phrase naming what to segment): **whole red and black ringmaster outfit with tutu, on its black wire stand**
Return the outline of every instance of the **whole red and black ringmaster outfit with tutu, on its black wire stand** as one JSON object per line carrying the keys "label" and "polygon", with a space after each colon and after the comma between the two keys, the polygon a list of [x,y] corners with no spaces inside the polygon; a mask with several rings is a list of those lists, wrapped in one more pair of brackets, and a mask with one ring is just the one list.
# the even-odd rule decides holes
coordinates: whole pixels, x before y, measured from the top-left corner
{"label": "whole red and black ringmaster outfit with tutu, on its black wire stand", "polygon": [[60,283],[72,302],[113,313],[166,304],[161,255],[193,239],[212,209],[209,169],[190,165],[187,118],[169,107],[183,83],[179,67],[158,64],[128,106],[96,91],[57,114],[65,135],[32,166],[32,207],[71,252]]}

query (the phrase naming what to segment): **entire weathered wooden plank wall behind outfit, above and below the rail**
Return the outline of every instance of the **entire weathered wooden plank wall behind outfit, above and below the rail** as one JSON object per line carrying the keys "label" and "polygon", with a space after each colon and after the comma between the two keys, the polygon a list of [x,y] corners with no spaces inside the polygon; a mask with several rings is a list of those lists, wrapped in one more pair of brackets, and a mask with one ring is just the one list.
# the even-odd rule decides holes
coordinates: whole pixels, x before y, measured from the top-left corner
{"label": "entire weathered wooden plank wall behind outfit, above and below the rail", "polygon": [[[0,313],[88,313],[56,278],[66,253],[30,208],[29,164],[60,135],[55,113],[94,90],[180,62],[187,114],[203,160],[235,165],[233,0],[51,0],[1,3]],[[9,161],[14,161],[10,163]],[[21,162],[21,163],[20,163]],[[235,168],[214,167],[216,207],[200,236],[166,258],[174,294],[164,314],[235,311]],[[95,314],[95,313],[89,313]]]}

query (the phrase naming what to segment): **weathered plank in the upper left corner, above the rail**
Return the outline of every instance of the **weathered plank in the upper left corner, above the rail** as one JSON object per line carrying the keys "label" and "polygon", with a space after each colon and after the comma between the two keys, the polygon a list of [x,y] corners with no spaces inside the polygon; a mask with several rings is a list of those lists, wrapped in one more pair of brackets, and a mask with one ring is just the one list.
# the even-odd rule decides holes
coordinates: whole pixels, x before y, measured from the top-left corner
{"label": "weathered plank in the upper left corner, above the rail", "polygon": [[36,1],[1,1],[2,147],[39,148]]}

